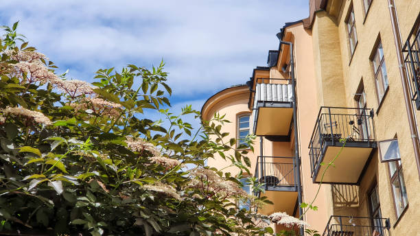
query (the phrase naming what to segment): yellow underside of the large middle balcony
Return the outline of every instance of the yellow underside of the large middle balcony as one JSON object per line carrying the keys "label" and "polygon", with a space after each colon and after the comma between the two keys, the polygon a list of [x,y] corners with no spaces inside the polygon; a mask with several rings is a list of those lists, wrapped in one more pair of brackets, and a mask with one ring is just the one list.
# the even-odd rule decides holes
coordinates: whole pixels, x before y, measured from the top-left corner
{"label": "yellow underside of the large middle balcony", "polygon": [[[325,168],[328,163],[336,158],[336,155],[340,152],[342,143],[331,143],[327,141],[323,145],[323,156],[320,156],[320,160],[316,163],[316,169],[314,172],[314,182],[320,182]],[[347,141],[342,152],[339,154],[334,166],[330,166],[325,172],[323,182],[334,183],[334,184],[358,184],[360,183],[360,176],[363,174],[364,169],[369,161],[371,152],[375,147],[373,142],[351,142]],[[320,163],[325,163],[320,165]]]}

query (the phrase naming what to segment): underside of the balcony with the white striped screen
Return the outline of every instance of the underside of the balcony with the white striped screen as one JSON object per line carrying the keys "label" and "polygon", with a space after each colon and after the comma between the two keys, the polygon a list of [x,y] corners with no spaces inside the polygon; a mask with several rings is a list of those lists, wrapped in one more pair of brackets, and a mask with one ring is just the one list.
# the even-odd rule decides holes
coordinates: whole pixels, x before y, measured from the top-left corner
{"label": "underside of the balcony with the white striped screen", "polygon": [[273,139],[290,139],[292,102],[258,102],[255,134]]}

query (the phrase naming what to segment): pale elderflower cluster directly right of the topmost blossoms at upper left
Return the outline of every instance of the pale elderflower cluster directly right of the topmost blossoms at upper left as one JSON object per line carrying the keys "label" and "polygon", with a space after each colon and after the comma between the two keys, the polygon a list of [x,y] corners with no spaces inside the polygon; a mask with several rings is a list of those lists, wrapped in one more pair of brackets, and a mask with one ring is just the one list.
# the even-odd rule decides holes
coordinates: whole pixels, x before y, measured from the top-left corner
{"label": "pale elderflower cluster directly right of the topmost blossoms at upper left", "polygon": [[58,88],[58,90],[67,93],[70,97],[75,98],[81,95],[91,95],[93,94],[94,86],[89,84],[88,82],[84,82],[82,80],[54,80],[54,86]]}

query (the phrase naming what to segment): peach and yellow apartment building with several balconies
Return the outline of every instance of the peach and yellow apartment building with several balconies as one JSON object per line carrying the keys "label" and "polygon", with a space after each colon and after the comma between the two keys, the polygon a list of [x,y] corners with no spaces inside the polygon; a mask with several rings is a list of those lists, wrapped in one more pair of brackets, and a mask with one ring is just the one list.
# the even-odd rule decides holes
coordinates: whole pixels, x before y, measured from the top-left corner
{"label": "peach and yellow apartment building with several balconies", "polygon": [[261,213],[299,216],[317,196],[304,217],[324,235],[420,235],[420,2],[309,9],[247,86],[207,100],[202,119],[226,114],[232,137],[258,136],[253,175],[275,203]]}

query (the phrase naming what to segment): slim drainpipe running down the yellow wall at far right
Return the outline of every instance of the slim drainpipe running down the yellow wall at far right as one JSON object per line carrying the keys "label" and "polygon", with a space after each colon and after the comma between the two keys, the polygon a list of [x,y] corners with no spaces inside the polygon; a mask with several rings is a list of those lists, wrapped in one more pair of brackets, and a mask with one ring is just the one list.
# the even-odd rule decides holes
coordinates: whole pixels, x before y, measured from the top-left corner
{"label": "slim drainpipe running down the yellow wall at far right", "polygon": [[404,101],[406,103],[408,124],[410,126],[410,134],[412,146],[414,147],[415,158],[417,163],[417,172],[419,172],[420,180],[420,151],[419,151],[419,130],[417,130],[416,116],[412,109],[412,102],[410,99],[410,90],[408,87],[408,79],[406,77],[406,67],[404,66],[404,57],[402,55],[401,46],[401,32],[399,32],[399,25],[397,19],[397,10],[395,9],[394,0],[388,0],[388,8],[390,14],[391,25],[394,33],[395,49],[397,49],[397,58],[399,64],[399,74],[401,75],[401,83],[403,86]]}

